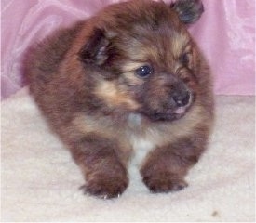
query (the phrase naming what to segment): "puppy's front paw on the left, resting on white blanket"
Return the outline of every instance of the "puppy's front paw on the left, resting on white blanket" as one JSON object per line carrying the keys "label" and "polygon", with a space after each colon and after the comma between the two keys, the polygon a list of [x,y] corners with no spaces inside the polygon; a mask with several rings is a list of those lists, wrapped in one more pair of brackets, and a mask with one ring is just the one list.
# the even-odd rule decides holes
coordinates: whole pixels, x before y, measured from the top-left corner
{"label": "puppy's front paw on the left, resting on white blanket", "polygon": [[102,199],[119,197],[128,187],[127,176],[96,175],[88,179],[82,189],[85,193],[97,196]]}

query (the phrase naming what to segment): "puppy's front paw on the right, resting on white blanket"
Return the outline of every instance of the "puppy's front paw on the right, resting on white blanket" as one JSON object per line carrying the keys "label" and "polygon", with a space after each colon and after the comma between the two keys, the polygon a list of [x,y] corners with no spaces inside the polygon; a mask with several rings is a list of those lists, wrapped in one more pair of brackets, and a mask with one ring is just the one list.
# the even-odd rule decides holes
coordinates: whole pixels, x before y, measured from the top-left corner
{"label": "puppy's front paw on the right, resting on white blanket", "polygon": [[188,186],[183,179],[169,173],[144,176],[142,180],[149,190],[155,193],[178,191]]}

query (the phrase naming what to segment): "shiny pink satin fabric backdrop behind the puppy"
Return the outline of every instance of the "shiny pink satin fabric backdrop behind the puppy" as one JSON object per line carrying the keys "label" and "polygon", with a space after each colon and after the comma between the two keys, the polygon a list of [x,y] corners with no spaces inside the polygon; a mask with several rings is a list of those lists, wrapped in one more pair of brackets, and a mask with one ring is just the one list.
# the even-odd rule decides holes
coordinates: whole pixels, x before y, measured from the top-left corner
{"label": "shiny pink satin fabric backdrop behind the puppy", "polygon": [[[88,18],[120,0],[2,0],[1,98],[24,84],[21,61],[32,43],[57,27]],[[205,13],[190,28],[215,78],[215,93],[255,93],[255,1],[202,0]],[[167,2],[170,2],[167,0]]]}

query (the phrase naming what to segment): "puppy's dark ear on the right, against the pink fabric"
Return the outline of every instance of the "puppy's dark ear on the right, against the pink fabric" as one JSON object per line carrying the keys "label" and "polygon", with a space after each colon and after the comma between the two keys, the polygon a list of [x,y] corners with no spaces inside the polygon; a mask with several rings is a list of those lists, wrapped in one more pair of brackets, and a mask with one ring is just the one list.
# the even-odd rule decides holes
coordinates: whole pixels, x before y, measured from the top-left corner
{"label": "puppy's dark ear on the right, against the pink fabric", "polygon": [[185,24],[192,24],[199,20],[204,12],[201,0],[177,0],[170,7],[177,12],[180,20]]}

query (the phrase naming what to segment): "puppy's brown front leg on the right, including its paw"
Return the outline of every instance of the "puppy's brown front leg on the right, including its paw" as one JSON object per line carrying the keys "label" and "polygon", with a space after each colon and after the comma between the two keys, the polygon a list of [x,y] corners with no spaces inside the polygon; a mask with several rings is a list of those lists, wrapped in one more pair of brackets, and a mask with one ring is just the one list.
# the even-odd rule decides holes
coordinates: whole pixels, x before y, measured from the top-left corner
{"label": "puppy's brown front leg on the right, including its paw", "polygon": [[152,151],[141,166],[142,180],[149,190],[168,192],[186,187],[184,177],[204,148],[204,140],[200,141],[182,138]]}

